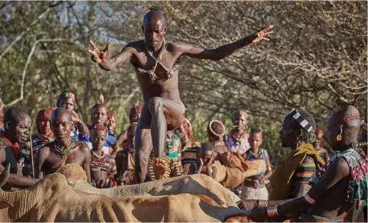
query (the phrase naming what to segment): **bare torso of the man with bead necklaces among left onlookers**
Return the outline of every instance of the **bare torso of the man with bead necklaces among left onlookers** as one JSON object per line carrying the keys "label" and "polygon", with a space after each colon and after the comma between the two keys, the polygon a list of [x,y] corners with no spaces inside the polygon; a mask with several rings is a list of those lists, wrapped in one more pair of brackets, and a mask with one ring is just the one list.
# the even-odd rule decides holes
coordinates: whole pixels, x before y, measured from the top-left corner
{"label": "bare torso of the man with bead necklaces among left onlookers", "polygon": [[84,143],[75,142],[75,147],[73,150],[68,155],[64,155],[64,158],[66,156],[67,157],[64,161],[64,164],[62,164],[62,156],[55,151],[54,143],[46,144],[43,148],[39,149],[39,152],[47,154],[47,158],[42,164],[41,168],[42,172],[44,172],[44,176],[56,172],[59,168],[67,163],[77,163],[82,166],[85,160],[85,150],[88,150],[88,148],[86,148]]}

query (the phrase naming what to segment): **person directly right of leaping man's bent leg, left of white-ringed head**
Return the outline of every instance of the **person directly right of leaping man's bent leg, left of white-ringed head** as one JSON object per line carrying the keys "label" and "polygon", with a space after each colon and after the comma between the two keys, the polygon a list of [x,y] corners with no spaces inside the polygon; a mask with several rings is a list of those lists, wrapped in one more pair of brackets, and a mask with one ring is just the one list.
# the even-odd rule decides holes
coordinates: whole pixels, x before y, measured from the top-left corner
{"label": "person directly right of leaping man's bent leg, left of white-ringed head", "polygon": [[201,142],[192,138],[192,125],[187,118],[174,131],[181,139],[181,167],[183,175],[188,175],[190,172],[197,172],[197,153],[201,148]]}

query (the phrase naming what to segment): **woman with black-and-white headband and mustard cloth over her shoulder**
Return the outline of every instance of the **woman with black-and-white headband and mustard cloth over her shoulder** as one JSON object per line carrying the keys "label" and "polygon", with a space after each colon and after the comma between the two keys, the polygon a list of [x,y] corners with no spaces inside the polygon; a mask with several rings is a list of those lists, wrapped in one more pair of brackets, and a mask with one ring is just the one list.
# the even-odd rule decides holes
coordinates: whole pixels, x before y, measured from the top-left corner
{"label": "woman with black-and-white headband and mustard cloth over her shoulder", "polygon": [[324,165],[324,160],[315,152],[315,121],[304,110],[293,109],[284,118],[280,141],[291,153],[279,164],[270,183],[273,191],[270,200],[302,197],[308,192],[308,182],[313,172]]}

